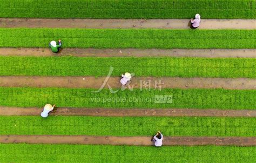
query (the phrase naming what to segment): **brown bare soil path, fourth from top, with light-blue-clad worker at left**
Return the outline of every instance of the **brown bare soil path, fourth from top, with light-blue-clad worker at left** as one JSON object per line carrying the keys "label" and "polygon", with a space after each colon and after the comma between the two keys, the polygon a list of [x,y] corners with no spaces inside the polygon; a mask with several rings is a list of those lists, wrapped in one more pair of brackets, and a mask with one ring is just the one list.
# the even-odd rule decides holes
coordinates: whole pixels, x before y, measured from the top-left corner
{"label": "brown bare soil path, fourth from top, with light-blue-clad worker at left", "polygon": [[[0,116],[39,116],[43,110],[38,107],[0,106]],[[51,116],[99,116],[99,117],[256,117],[256,110],[218,109],[143,109],[143,108],[75,108],[56,107]]]}

